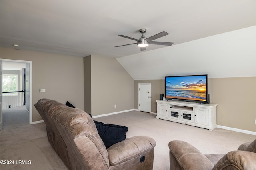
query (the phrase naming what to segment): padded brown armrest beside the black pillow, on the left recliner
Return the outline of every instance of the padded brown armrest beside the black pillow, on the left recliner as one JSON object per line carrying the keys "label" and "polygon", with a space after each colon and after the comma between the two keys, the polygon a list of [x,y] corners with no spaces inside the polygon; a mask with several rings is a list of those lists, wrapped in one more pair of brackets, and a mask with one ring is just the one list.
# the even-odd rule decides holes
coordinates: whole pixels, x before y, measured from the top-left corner
{"label": "padded brown armrest beside the black pillow, on the left recliner", "polygon": [[[154,149],[156,141],[148,136],[134,136],[126,138],[110,146],[108,151],[109,163],[112,166],[126,162]],[[147,158],[146,158],[147,159]]]}

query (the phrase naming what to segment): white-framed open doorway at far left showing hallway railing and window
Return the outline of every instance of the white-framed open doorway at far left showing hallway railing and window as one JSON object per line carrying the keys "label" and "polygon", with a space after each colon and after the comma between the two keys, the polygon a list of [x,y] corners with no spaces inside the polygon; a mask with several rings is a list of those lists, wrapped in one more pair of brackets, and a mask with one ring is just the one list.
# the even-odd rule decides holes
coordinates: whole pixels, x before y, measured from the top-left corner
{"label": "white-framed open doorway at far left showing hallway railing and window", "polygon": [[[19,126],[24,124],[32,124],[32,61],[23,61],[23,60],[9,60],[9,59],[0,59],[2,61],[2,73],[3,75],[6,73],[7,75],[11,75],[11,73],[18,74],[18,81],[16,81],[16,90],[17,94],[14,93],[14,96],[10,98],[14,98],[18,96],[18,92],[21,91],[20,100],[22,100],[21,104],[18,101],[19,106],[14,106],[17,102],[11,102],[7,106],[7,109],[2,107],[2,122],[3,128]],[[23,77],[24,74],[24,77]],[[10,78],[15,78],[10,77]],[[3,80],[1,79],[3,82]],[[3,88],[4,85],[2,85]],[[12,88],[15,88],[14,86]],[[12,89],[13,90],[13,89]],[[2,100],[4,96],[2,96]],[[10,100],[10,99],[8,99]],[[16,99],[15,99],[16,100]],[[4,115],[3,115],[4,114]]]}

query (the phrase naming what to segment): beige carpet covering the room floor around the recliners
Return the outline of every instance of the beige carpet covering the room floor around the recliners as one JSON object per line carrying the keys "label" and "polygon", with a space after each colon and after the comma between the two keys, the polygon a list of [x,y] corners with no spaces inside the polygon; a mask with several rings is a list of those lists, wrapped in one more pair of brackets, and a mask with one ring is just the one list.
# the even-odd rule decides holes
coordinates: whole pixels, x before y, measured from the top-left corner
{"label": "beige carpet covering the room floor around the recliners", "polygon": [[[170,170],[168,143],[184,140],[203,154],[226,154],[240,144],[252,141],[254,135],[216,128],[209,131],[167,120],[146,112],[125,112],[94,120],[127,126],[126,138],[144,135],[156,140],[153,170]],[[1,170],[67,170],[50,146],[44,123],[4,128],[0,131],[0,160],[31,160],[31,164],[0,165]]]}

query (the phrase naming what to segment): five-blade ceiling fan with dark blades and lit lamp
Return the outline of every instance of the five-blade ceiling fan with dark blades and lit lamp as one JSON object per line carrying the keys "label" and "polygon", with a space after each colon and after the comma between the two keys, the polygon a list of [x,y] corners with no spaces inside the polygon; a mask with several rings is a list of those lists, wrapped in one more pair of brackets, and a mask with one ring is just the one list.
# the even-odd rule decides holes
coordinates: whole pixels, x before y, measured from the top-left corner
{"label": "five-blade ceiling fan with dark blades and lit lamp", "polygon": [[[144,36],[144,33],[147,31],[146,28],[142,28],[139,31],[140,31],[140,33],[142,33],[142,36],[140,37],[140,39],[135,39],[135,38],[131,38],[131,37],[128,37],[128,36],[123,36],[123,35],[118,35],[118,36],[121,36],[121,37],[124,37],[124,38],[128,38],[128,39],[137,41],[136,43],[132,43],[132,44],[137,44],[137,46],[140,47],[140,51],[146,50],[146,47],[149,46],[150,44],[164,45],[164,46],[171,46],[173,44],[173,42],[152,41],[152,40],[155,40],[157,38],[161,38],[163,36],[167,36],[168,33],[165,32],[165,31],[160,32],[160,33],[158,33],[158,34],[156,34],[154,36],[151,36],[149,38],[146,38]],[[126,45],[122,45],[122,46],[128,46],[128,45],[132,45],[132,44],[126,44]],[[121,47],[121,46],[115,46],[115,47]]]}

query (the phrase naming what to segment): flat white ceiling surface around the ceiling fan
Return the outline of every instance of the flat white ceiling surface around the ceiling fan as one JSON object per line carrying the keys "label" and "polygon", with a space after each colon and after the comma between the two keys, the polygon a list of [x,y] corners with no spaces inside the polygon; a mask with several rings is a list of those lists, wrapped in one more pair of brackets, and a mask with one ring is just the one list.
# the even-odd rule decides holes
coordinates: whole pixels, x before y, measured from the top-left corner
{"label": "flat white ceiling surface around the ceiling fan", "polygon": [[[162,31],[156,41],[171,47],[256,25],[256,0],[0,0],[0,46],[72,56],[120,58],[140,52],[119,37],[140,38]],[[166,47],[166,48],[171,48]]]}

